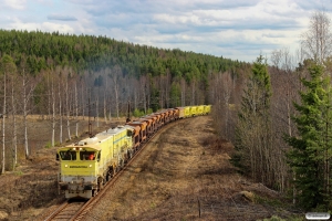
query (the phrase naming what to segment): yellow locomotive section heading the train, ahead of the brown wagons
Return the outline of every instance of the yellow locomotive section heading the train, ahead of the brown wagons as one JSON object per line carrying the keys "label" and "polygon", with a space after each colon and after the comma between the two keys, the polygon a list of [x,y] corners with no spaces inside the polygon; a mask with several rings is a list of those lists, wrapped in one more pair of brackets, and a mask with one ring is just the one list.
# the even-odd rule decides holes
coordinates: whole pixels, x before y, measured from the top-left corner
{"label": "yellow locomotive section heading the train, ahead of the brown wagons", "polygon": [[65,198],[91,198],[106,181],[110,169],[123,166],[132,151],[132,127],[116,127],[59,148],[59,186]]}

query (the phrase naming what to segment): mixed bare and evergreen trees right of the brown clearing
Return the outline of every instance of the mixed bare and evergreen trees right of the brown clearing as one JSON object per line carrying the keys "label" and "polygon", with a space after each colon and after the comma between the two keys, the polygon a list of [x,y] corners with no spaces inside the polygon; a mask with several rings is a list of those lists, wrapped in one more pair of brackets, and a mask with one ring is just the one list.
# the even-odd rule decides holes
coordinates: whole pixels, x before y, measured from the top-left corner
{"label": "mixed bare and evergreen trees right of the brown clearing", "polygon": [[[315,12],[300,50],[258,56],[248,75],[218,75],[214,122],[235,144],[231,161],[305,211],[332,210],[332,30]],[[268,65],[268,61],[270,65]],[[238,92],[241,92],[240,95]],[[221,113],[221,114],[220,114]]]}

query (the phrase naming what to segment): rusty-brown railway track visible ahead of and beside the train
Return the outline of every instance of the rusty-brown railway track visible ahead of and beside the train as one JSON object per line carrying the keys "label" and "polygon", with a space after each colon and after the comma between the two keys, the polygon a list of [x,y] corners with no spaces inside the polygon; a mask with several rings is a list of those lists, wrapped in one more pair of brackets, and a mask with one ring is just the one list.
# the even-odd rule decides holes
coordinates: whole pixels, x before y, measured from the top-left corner
{"label": "rusty-brown railway track visible ahead of and beside the train", "polygon": [[153,134],[153,136],[148,137],[146,143],[141,145],[141,148],[136,150],[135,155],[127,161],[122,170],[120,170],[106,185],[103,187],[101,191],[93,198],[87,201],[72,201],[68,200],[58,207],[55,210],[50,212],[44,219],[44,221],[59,221],[59,220],[70,220],[70,221],[79,221],[82,220],[85,215],[89,215],[89,211],[103,198],[103,196],[111,191],[112,187],[116,183],[117,179],[122,176],[123,172],[126,171],[127,167],[132,165],[136,159],[138,159],[139,154],[143,151],[144,147],[148,144],[148,141],[154,138],[162,130],[167,129],[169,126],[174,124],[167,124],[163,126],[158,131]]}

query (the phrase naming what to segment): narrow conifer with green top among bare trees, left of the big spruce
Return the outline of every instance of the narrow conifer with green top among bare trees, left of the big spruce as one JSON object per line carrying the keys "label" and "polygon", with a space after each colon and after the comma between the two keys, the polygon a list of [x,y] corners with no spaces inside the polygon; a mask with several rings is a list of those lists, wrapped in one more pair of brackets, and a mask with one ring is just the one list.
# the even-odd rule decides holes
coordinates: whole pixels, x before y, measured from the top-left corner
{"label": "narrow conifer with green top among bare trees, left of the big spruce", "polygon": [[261,55],[252,66],[252,74],[243,92],[237,125],[234,162],[255,181],[273,185],[271,167],[270,127],[271,83],[268,64]]}

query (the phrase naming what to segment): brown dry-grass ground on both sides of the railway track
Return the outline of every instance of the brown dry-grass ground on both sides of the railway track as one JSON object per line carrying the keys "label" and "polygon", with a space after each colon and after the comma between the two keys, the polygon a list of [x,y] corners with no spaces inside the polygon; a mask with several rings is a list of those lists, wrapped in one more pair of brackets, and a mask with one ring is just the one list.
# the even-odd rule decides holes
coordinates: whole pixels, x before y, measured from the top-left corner
{"label": "brown dry-grass ground on both sides of the railway track", "polygon": [[[278,192],[236,172],[231,144],[218,139],[211,125],[201,116],[164,128],[85,220],[291,218]],[[0,176],[0,220],[37,220],[63,200],[55,149],[39,150],[15,172]]]}

